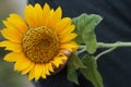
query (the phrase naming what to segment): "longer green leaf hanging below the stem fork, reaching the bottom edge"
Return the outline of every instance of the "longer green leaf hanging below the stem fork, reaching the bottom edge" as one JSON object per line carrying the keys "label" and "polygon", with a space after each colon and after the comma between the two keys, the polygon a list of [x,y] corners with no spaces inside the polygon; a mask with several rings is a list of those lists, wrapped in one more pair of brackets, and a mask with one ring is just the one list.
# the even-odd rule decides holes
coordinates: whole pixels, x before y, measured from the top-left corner
{"label": "longer green leaf hanging below the stem fork, reaching the bottom edge", "polygon": [[82,59],[82,62],[84,65],[86,65],[86,69],[80,69],[83,76],[88,79],[94,87],[103,87],[103,78],[97,71],[96,60],[86,54]]}

